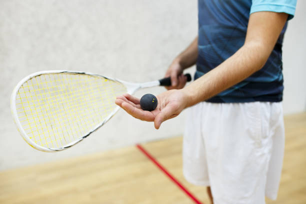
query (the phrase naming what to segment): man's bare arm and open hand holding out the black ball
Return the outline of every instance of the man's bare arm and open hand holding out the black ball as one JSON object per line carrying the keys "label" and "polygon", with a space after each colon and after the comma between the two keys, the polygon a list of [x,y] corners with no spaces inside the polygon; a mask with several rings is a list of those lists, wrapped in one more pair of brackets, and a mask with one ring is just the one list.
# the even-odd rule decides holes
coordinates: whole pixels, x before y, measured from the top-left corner
{"label": "man's bare arm and open hand holding out the black ball", "polygon": [[163,121],[177,116],[182,109],[212,97],[262,68],[287,17],[285,13],[268,11],[252,13],[243,46],[187,87],[159,94],[155,110],[142,110],[138,105],[139,99],[129,94],[117,97],[116,104],[138,119],[154,121],[158,129]]}

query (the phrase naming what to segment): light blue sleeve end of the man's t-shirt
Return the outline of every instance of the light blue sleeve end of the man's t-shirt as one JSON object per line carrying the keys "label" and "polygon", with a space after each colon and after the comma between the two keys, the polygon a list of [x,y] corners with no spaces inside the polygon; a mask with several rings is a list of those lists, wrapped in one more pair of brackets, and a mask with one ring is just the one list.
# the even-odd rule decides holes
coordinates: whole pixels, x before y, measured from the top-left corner
{"label": "light blue sleeve end of the man's t-shirt", "polygon": [[249,14],[259,11],[284,12],[292,19],[295,12],[296,0],[252,0]]}

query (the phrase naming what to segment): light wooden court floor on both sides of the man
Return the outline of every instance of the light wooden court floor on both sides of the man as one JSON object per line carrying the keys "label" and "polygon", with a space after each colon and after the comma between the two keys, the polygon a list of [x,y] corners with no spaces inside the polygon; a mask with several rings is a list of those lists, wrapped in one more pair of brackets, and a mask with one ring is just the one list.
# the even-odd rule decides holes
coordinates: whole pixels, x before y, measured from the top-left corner
{"label": "light wooden court floor on both sides of the man", "polygon": [[[285,116],[286,144],[278,197],[306,203],[306,113]],[[205,188],[183,178],[181,137],[142,146],[201,203]],[[77,147],[75,147],[77,148]],[[194,203],[137,147],[0,172],[0,203]]]}

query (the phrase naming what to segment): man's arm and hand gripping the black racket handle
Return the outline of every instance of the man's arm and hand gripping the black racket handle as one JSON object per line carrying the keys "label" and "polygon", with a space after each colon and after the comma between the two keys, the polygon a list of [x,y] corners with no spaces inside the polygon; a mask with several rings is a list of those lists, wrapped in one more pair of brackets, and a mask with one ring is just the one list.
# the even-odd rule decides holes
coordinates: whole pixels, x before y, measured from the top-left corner
{"label": "man's arm and hand gripping the black racket handle", "polygon": [[191,44],[182,51],[172,61],[171,65],[167,69],[164,77],[171,77],[171,86],[167,86],[170,89],[180,89],[186,84],[186,78],[183,77],[183,70],[195,64],[197,58],[197,37],[191,42]]}

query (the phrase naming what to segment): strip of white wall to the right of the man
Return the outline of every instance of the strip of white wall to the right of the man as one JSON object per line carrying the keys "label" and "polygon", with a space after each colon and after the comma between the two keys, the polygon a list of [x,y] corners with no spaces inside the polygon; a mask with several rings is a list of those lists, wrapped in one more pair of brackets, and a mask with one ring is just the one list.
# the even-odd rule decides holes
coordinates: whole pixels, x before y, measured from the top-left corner
{"label": "strip of white wall to the right of the man", "polygon": [[306,0],[297,0],[296,6],[282,48],[285,114],[306,110]]}

